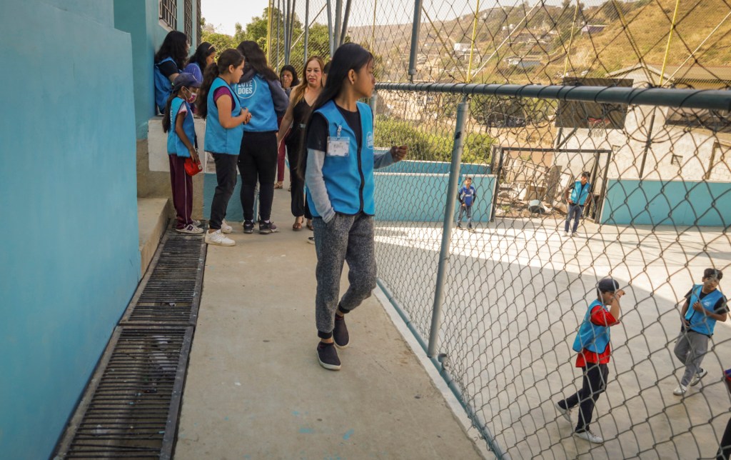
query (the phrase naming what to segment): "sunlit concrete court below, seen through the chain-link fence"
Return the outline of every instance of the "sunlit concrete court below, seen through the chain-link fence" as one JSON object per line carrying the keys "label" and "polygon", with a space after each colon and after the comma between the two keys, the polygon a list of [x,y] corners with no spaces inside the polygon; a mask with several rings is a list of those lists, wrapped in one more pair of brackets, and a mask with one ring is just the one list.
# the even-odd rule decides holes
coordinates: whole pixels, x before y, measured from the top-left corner
{"label": "sunlit concrete court below, seen through the chain-link fence", "polygon": [[[477,413],[513,459],[709,458],[729,419],[721,383],[731,367],[731,321],[716,326],[703,367],[708,376],[673,396],[681,365],[673,355],[678,299],[703,268],[731,270],[729,236],[719,228],[598,227],[564,238],[550,219],[498,219],[476,233],[455,230],[444,289],[439,352]],[[561,229],[562,230],[562,229]],[[379,222],[379,276],[426,334],[441,227]],[[577,390],[571,350],[597,279],[612,274],[627,294],[613,328],[607,392],[590,445],[553,404]],[[576,423],[577,413],[573,413]]]}

